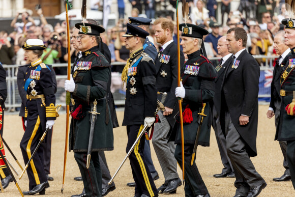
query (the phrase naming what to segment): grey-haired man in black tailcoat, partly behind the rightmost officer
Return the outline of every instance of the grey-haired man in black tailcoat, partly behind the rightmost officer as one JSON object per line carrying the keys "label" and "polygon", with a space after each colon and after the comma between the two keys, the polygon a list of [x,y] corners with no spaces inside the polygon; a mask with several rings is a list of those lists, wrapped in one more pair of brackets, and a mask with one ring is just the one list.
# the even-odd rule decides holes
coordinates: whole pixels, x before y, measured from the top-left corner
{"label": "grey-haired man in black tailcoat, partly behind the rightmost officer", "polygon": [[[280,57],[276,61],[276,65],[274,67],[273,72],[273,80],[271,83],[271,102],[270,107],[267,112],[267,117],[269,119],[273,118],[275,116],[275,125],[276,128],[279,125],[279,117],[280,117],[280,111],[281,111],[281,96],[280,96],[280,90],[281,90],[281,84],[280,84],[280,76],[282,72],[284,71],[285,64],[287,60],[289,59],[291,55],[291,50],[288,46],[285,45],[285,38],[284,38],[285,32],[279,31],[275,38],[274,38],[274,49]],[[291,174],[289,170],[289,165],[286,157],[286,149],[287,149],[287,142],[286,141],[279,141],[283,156],[284,156],[284,162],[283,166],[285,167],[284,174],[279,178],[274,178],[274,181],[289,181],[291,180]]]}

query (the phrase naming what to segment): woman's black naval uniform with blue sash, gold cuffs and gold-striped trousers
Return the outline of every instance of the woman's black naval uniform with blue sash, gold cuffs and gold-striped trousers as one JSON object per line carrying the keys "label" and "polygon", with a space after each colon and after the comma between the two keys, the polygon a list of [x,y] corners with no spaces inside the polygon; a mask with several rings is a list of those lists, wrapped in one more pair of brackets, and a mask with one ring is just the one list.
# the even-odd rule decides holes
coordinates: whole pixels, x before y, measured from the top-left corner
{"label": "woman's black naval uniform with blue sash, gold cuffs and gold-striped trousers", "polygon": [[[55,120],[56,114],[52,72],[48,66],[42,63],[41,59],[28,66],[23,81],[23,89],[28,96],[33,96],[33,98],[27,97],[24,115],[27,124],[20,142],[23,160],[24,163],[27,163],[45,131],[46,121]],[[47,181],[43,147],[39,147],[26,172],[30,190]]]}

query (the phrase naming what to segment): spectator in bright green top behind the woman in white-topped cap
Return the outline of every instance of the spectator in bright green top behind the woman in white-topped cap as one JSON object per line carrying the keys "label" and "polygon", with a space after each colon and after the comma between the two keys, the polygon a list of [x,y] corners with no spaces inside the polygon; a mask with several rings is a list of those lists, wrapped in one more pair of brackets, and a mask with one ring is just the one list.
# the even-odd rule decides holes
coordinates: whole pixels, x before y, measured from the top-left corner
{"label": "spectator in bright green top behind the woman in white-topped cap", "polygon": [[[45,43],[46,44],[46,43]],[[58,60],[62,56],[62,47],[58,41],[57,34],[52,34],[51,39],[48,41],[48,46],[42,54],[42,61],[44,64],[52,65],[54,60]]]}

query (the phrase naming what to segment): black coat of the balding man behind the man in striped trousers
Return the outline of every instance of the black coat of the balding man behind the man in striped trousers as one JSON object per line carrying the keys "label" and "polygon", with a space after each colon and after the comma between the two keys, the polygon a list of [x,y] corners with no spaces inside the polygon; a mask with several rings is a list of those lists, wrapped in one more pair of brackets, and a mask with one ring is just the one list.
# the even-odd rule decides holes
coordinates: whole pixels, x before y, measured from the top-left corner
{"label": "black coat of the balding man behind the man in striped trousers", "polygon": [[217,72],[217,78],[215,79],[215,95],[213,98],[214,106],[217,111],[218,116],[220,117],[220,106],[221,106],[221,83],[224,77],[225,70],[228,66],[232,66],[231,60],[232,55],[223,63],[223,65],[218,65],[215,70]]}

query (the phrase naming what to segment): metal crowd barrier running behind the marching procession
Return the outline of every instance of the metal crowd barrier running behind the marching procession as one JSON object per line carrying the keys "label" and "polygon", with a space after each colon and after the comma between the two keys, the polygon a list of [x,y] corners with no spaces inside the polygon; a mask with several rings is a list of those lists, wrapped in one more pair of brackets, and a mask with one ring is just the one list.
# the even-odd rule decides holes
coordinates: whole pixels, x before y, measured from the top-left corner
{"label": "metal crowd barrier running behind the marching procession", "polygon": [[[278,56],[265,56],[265,55],[253,55],[255,59],[261,59],[265,58],[265,66],[260,67],[261,71],[265,70],[273,70],[273,62]],[[219,61],[220,58],[210,58],[211,61]],[[113,62],[111,64],[112,66],[125,66],[125,63],[122,62]],[[5,102],[6,108],[8,112],[14,112],[17,111],[18,108],[21,105],[21,98],[19,96],[18,87],[17,87],[17,76],[16,71],[19,65],[3,65],[3,67],[7,70],[7,91],[8,96]],[[56,67],[67,67],[67,64],[53,64],[53,68]],[[117,74],[117,77],[119,77],[120,74]],[[112,77],[114,79],[115,76]],[[64,89],[64,81],[67,79],[67,75],[56,75],[57,80],[57,92],[55,94],[56,96],[56,104],[61,104],[62,106],[65,106],[66,103],[66,94]],[[118,82],[120,79],[118,79],[116,82]],[[113,97],[115,105],[124,105],[125,103],[125,92],[122,90],[122,86],[118,86],[117,89],[113,91]],[[269,94],[265,95],[259,95],[259,97],[270,97]],[[16,113],[16,112],[15,112]]]}

